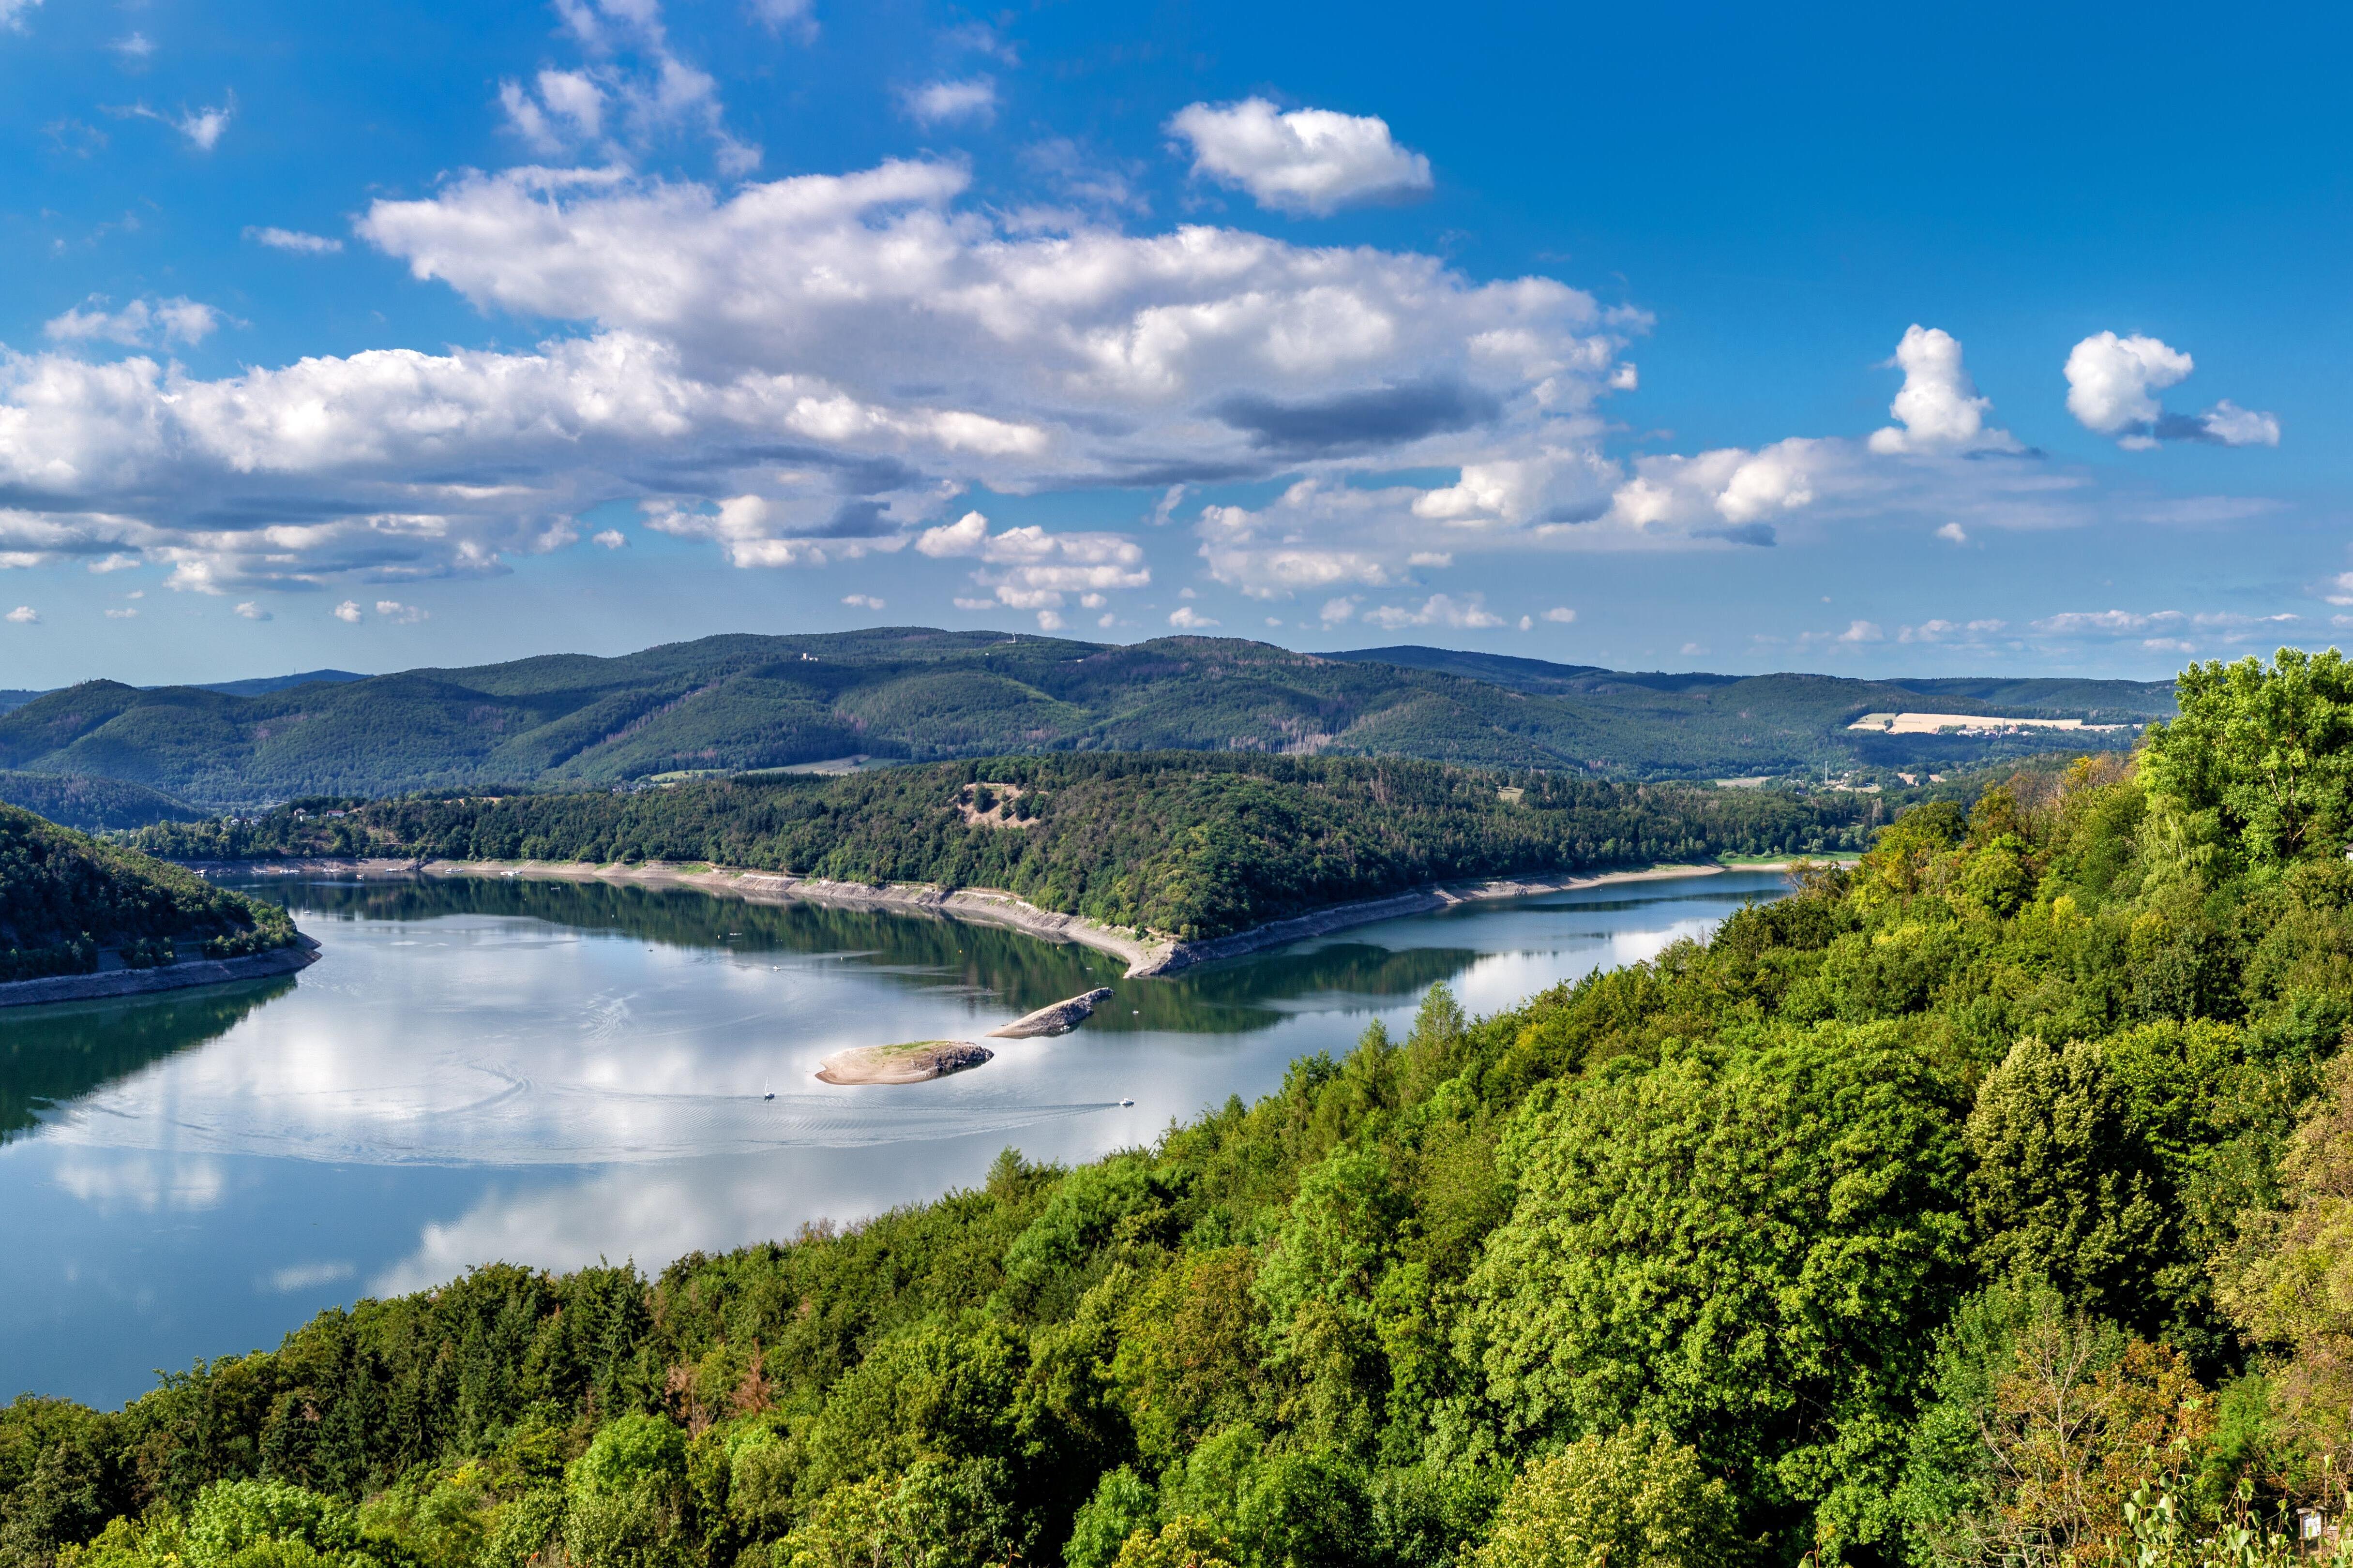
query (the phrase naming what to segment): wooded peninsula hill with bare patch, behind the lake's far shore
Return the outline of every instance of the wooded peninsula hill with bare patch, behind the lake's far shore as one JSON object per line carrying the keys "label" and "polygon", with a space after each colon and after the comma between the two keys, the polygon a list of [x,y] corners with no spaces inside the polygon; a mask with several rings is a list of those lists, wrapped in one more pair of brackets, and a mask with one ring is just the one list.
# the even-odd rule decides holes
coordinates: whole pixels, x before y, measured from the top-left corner
{"label": "wooded peninsula hill with bare patch, behind the lake's far shore", "polygon": [[668,860],[991,886],[1111,926],[1207,938],[1459,877],[1861,849],[1875,820],[1873,795],[1614,785],[1395,757],[1141,752],[626,795],[313,797],[259,818],[165,823],[132,842],[179,860]]}

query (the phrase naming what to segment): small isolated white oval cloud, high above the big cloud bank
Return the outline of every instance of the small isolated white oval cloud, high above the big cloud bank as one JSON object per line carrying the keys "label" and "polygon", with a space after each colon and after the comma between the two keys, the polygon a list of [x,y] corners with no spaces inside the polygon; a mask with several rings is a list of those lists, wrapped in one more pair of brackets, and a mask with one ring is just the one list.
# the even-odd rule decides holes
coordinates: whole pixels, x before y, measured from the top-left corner
{"label": "small isolated white oval cloud, high above the big cloud bank", "polygon": [[1325,216],[1431,188],[1431,160],[1398,146],[1377,115],[1282,113],[1266,99],[1188,103],[1169,134],[1193,148],[1195,174],[1240,186],[1275,212]]}

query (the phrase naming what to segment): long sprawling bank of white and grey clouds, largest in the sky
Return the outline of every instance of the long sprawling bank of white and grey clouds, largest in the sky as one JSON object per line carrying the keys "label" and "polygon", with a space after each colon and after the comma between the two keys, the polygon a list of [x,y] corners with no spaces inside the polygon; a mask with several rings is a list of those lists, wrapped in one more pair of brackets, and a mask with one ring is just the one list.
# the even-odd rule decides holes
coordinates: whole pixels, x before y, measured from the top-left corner
{"label": "long sprawling bank of white and grey clouds, largest in the sky", "polygon": [[[595,155],[628,153],[600,75],[645,63],[626,9],[562,12]],[[527,89],[565,139],[591,115],[572,92]],[[1120,487],[1158,496],[1153,520],[1181,510],[1209,578],[1242,595],[1421,614],[1438,574],[1506,550],[1765,545],[1800,520],[1889,515],[2059,527],[2099,501],[2047,465],[1887,458],[1859,437],[1614,458],[1600,404],[1640,313],[1238,226],[1038,230],[969,181],[894,160],[718,188],[612,160],[374,202],[360,242],[520,322],[518,346],[212,378],[160,353],[0,355],[0,562],[148,562],[181,590],[332,585],[358,607],[379,592],[362,583],[508,571],[624,503],[736,567],[913,548],[967,562],[979,604],[1094,611],[1087,595],[1151,583],[1134,538],[993,529],[958,498]],[[172,301],[139,303],[129,324],[78,308],[59,341],[195,331]],[[1906,440],[1958,428],[1901,416]],[[1205,484],[1266,480],[1268,501],[1193,512]]]}

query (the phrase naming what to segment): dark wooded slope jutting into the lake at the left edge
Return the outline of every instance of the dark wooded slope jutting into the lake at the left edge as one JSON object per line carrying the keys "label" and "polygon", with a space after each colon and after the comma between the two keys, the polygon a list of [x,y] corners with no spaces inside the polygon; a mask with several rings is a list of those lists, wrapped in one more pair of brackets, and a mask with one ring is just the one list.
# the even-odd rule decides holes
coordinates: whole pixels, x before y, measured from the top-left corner
{"label": "dark wooded slope jutting into the lake at the left edge", "polygon": [[285,910],[0,806],[0,980],[285,947]]}

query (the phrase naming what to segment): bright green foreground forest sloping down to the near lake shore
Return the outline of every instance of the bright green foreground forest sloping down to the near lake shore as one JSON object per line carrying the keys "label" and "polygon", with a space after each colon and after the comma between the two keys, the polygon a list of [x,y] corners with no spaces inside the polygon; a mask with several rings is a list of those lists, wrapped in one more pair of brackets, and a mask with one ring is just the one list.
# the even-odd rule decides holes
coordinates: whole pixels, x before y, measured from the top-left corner
{"label": "bright green foreground forest sloping down to the near lake shore", "polygon": [[1151,1147],[19,1399],[0,1561],[2299,1561],[2353,1460],[2348,837],[2353,668],[2193,668],[2129,762]]}

